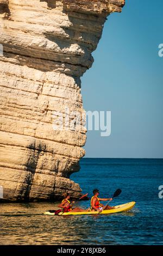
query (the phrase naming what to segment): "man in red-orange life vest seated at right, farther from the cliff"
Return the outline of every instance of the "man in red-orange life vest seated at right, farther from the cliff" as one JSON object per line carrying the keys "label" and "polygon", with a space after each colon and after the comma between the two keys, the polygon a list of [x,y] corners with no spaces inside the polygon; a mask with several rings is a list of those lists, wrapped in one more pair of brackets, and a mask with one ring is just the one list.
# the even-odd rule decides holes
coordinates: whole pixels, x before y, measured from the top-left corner
{"label": "man in red-orange life vest seated at right, farther from the cliff", "polygon": [[[100,201],[111,201],[112,198],[99,198],[99,190],[93,190],[93,197],[91,198],[91,211],[99,211],[102,212],[103,207],[105,207],[103,204],[100,203]],[[107,205],[105,207],[105,210],[114,209],[114,207],[111,207]]]}

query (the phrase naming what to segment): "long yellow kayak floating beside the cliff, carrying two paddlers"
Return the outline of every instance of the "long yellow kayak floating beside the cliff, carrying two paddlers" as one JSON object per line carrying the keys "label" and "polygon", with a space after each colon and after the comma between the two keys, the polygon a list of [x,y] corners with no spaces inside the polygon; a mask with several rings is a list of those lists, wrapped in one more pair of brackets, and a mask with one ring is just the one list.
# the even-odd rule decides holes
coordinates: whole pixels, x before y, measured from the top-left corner
{"label": "long yellow kayak floating beside the cliff, carrying two paddlers", "polygon": [[[120,205],[116,205],[114,206],[114,209],[111,210],[104,210],[102,212],[98,212],[98,211],[77,211],[77,212],[64,212],[64,214],[62,212],[60,212],[59,215],[65,216],[65,215],[92,215],[92,214],[116,214],[117,212],[124,212],[124,211],[129,211],[131,210],[136,202],[129,202],[127,204],[120,204]],[[45,215],[54,215],[54,212],[49,212],[46,211],[44,212]]]}

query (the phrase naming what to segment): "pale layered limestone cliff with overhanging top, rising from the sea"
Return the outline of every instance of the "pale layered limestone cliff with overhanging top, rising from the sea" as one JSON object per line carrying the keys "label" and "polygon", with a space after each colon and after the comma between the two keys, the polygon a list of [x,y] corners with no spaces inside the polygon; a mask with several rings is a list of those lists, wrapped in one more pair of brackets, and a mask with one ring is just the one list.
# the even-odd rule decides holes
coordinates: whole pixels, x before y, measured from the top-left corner
{"label": "pale layered limestone cliff with overhanging top, rising from the sea", "polygon": [[[8,200],[60,199],[81,189],[83,123],[54,128],[62,114],[83,114],[80,76],[110,13],[124,0],[0,0],[0,185]],[[65,113],[68,108],[68,113]],[[66,126],[66,129],[65,129]]]}

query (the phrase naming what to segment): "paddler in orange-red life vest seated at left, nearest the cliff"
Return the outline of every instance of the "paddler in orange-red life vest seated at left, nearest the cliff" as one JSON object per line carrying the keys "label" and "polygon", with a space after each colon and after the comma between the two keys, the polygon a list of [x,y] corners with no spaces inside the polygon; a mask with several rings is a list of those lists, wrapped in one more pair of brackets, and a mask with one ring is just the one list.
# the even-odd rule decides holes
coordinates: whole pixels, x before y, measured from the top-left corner
{"label": "paddler in orange-red life vest seated at left, nearest the cliff", "polygon": [[72,211],[72,212],[77,212],[77,211],[86,211],[84,209],[80,209],[80,208],[72,208],[72,205],[75,203],[74,201],[72,203],[70,203],[70,194],[69,193],[64,193],[63,194],[64,199],[62,200],[61,204],[58,205],[58,207],[61,207],[63,212],[68,212],[68,211]]}

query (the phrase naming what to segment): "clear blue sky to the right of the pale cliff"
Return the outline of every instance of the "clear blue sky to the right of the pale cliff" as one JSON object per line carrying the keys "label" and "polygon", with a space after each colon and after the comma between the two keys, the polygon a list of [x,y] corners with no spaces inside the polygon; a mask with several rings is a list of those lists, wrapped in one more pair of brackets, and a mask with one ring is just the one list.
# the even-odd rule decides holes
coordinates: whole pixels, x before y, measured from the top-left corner
{"label": "clear blue sky to the right of the pale cliff", "polygon": [[86,111],[111,111],[111,135],[87,131],[85,157],[163,157],[162,9],[162,0],[126,0],[105,22],[82,95]]}

